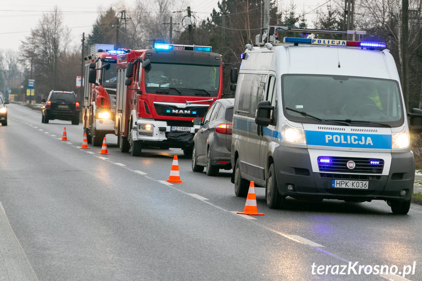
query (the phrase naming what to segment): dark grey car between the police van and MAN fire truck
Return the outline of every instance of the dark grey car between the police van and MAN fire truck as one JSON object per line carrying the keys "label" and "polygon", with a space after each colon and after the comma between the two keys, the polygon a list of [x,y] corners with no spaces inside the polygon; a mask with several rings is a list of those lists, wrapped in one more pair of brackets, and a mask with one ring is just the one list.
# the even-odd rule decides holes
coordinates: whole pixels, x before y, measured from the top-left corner
{"label": "dark grey car between the police van and MAN fire truck", "polygon": [[194,123],[201,125],[194,136],[192,152],[192,171],[202,172],[206,167],[207,175],[217,175],[220,169],[230,170],[230,146],[233,121],[234,99],[215,101],[202,122],[200,118]]}

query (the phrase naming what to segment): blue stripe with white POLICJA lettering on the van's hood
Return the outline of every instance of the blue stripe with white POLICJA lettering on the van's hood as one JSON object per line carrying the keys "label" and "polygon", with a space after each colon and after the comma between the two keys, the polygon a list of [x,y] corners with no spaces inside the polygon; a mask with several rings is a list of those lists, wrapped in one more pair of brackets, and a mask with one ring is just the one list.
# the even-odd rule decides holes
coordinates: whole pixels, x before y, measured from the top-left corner
{"label": "blue stripe with white POLICJA lettering on the van's hood", "polygon": [[305,131],[308,145],[391,149],[391,134],[359,134],[324,131]]}

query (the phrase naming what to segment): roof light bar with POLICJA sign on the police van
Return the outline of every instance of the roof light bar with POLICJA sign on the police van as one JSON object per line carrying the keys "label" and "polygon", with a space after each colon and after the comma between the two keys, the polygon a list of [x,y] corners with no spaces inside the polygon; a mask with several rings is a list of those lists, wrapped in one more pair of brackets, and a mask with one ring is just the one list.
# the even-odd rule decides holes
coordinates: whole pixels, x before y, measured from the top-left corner
{"label": "roof light bar with POLICJA sign on the police van", "polygon": [[311,44],[311,45],[326,45],[326,46],[361,47],[361,48],[368,48],[368,49],[384,49],[387,47],[386,43],[381,43],[381,42],[311,39],[311,38],[295,38],[295,37],[285,37],[283,39],[283,42],[297,43],[297,44]]}

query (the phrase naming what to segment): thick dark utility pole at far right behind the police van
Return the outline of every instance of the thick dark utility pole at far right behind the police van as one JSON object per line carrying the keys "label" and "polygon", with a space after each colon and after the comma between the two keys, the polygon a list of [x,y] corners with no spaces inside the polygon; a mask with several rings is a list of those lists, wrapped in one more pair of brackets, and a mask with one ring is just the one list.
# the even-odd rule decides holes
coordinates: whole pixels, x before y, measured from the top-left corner
{"label": "thick dark utility pole at far right behind the police van", "polygon": [[407,37],[409,36],[409,0],[401,0],[401,55],[403,63],[401,66],[401,87],[404,96],[404,106],[409,108],[409,58]]}

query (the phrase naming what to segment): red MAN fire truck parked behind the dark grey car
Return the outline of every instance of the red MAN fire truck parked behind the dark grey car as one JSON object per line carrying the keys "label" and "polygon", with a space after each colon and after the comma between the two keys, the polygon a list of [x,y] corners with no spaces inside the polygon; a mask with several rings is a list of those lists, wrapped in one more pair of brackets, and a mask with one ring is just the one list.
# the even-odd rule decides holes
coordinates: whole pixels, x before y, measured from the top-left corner
{"label": "red MAN fire truck parked behind the dark grey car", "polygon": [[140,155],[145,146],[181,148],[191,155],[193,135],[222,96],[222,56],[210,46],[156,43],[117,56],[114,133],[120,151]]}

